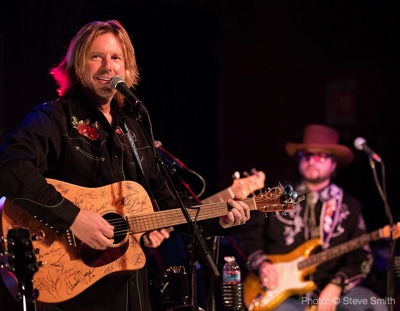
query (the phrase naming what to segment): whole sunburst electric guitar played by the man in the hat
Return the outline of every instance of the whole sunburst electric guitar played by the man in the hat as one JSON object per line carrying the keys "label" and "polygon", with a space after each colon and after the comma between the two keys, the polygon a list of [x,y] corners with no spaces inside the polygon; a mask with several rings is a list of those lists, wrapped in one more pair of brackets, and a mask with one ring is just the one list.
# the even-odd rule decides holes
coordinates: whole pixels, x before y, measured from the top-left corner
{"label": "whole sunburst electric guitar played by the man in the hat", "polygon": [[[340,257],[355,249],[383,238],[397,239],[400,227],[395,225],[392,232],[387,225],[371,233],[312,254],[321,245],[319,239],[311,239],[288,254],[268,255],[268,260],[275,266],[279,275],[279,284],[274,289],[265,288],[259,276],[249,273],[244,281],[244,302],[248,310],[270,311],[292,295],[302,295],[313,291],[316,285],[304,277],[315,272],[320,264]],[[392,233],[392,235],[391,235]]]}

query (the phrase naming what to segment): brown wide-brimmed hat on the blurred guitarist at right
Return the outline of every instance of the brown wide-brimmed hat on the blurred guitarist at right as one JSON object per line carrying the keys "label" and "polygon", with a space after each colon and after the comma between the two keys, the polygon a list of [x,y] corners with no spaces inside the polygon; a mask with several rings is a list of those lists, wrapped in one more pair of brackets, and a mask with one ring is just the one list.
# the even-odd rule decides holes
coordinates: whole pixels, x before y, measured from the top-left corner
{"label": "brown wide-brimmed hat on the blurred guitarist at right", "polygon": [[321,151],[332,154],[338,166],[346,166],[353,160],[353,152],[347,146],[340,145],[339,133],[334,129],[322,124],[310,124],[304,128],[303,142],[288,142],[285,149],[288,155],[294,156],[304,149],[321,149]]}

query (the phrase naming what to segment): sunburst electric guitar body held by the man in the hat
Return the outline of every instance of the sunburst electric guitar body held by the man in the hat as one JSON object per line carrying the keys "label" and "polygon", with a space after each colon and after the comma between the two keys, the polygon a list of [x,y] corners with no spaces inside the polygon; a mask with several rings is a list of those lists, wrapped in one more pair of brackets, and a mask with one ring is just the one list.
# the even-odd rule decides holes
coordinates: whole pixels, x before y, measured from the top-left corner
{"label": "sunburst electric guitar body held by the man in the hat", "polygon": [[274,264],[279,284],[274,289],[265,289],[258,275],[249,273],[244,281],[244,303],[252,306],[253,311],[269,311],[276,308],[292,295],[302,295],[312,291],[315,283],[305,281],[304,277],[315,271],[316,266],[300,270],[298,263],[307,258],[320,246],[318,239],[308,240],[290,253],[283,255],[268,255]]}

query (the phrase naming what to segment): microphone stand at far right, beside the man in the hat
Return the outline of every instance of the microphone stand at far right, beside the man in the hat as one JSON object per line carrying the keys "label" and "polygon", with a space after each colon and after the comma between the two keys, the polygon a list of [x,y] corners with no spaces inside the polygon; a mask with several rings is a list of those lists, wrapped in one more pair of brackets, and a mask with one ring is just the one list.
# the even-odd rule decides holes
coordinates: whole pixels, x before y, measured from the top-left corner
{"label": "microphone stand at far right, beside the man in the hat", "polygon": [[[390,241],[389,241],[389,258],[388,258],[388,270],[387,270],[387,289],[386,289],[386,293],[387,293],[387,297],[393,297],[394,294],[394,282],[393,282],[393,256],[394,256],[394,250],[395,250],[395,246],[396,246],[396,240],[393,238],[393,216],[392,213],[390,211],[390,207],[389,207],[389,203],[387,201],[387,194],[386,194],[386,181],[385,181],[385,164],[383,162],[383,160],[381,160],[380,162],[381,164],[381,169],[382,169],[382,187],[379,183],[379,179],[376,173],[376,168],[375,168],[375,161],[372,157],[369,157],[369,165],[371,166],[372,169],[372,173],[374,176],[374,180],[375,180],[375,184],[378,188],[379,194],[382,198],[383,201],[383,205],[385,208],[385,213],[386,216],[389,220],[389,226],[390,226]],[[389,310],[393,311],[393,307],[394,304],[390,303],[389,304]]]}

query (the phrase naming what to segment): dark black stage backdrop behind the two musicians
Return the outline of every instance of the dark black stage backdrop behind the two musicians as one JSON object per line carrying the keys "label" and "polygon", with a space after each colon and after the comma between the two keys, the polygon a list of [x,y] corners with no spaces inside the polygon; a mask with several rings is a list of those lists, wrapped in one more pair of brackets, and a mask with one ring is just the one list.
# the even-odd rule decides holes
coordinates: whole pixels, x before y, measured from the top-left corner
{"label": "dark black stage backdrop behind the two musicians", "polygon": [[[349,147],[362,136],[381,155],[396,222],[399,9],[399,1],[382,0],[2,1],[1,139],[32,106],[56,96],[48,70],[75,32],[118,19],[132,35],[137,95],[155,138],[204,177],[201,199],[251,168],[275,186],[293,168],[284,143],[322,122]],[[199,193],[198,180],[188,180]],[[363,152],[337,182],[363,202],[369,231],[387,224]]]}

